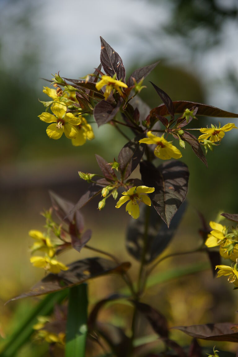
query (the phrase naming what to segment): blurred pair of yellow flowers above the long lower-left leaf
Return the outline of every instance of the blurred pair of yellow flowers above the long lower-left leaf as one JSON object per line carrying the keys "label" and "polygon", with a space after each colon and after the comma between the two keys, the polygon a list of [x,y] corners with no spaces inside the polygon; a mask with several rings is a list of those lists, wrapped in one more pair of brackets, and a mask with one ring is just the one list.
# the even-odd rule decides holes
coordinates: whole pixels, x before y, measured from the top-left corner
{"label": "blurred pair of yellow flowers above the long lower-left leaf", "polygon": [[57,261],[54,256],[56,254],[57,244],[53,244],[50,237],[44,235],[40,231],[31,230],[29,236],[36,240],[36,242],[30,248],[31,252],[36,251],[45,252],[45,256],[33,256],[30,258],[30,262],[39,268],[44,268],[47,272],[54,274],[59,273],[61,270],[68,270],[68,268],[61,262]]}

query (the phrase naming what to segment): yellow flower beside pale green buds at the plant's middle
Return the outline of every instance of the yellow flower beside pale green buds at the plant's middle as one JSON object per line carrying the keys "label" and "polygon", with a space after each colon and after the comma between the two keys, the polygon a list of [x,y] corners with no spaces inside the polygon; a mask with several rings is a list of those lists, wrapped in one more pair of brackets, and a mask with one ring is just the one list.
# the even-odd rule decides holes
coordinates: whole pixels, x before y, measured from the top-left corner
{"label": "yellow flower beside pale green buds at the plant's middle", "polygon": [[122,192],[122,197],[116,204],[116,208],[120,208],[125,202],[130,201],[126,205],[126,212],[129,213],[133,218],[138,218],[140,216],[140,201],[144,202],[147,206],[151,206],[150,197],[145,195],[145,193],[152,193],[155,191],[154,187],[147,186],[134,186],[128,191]]}

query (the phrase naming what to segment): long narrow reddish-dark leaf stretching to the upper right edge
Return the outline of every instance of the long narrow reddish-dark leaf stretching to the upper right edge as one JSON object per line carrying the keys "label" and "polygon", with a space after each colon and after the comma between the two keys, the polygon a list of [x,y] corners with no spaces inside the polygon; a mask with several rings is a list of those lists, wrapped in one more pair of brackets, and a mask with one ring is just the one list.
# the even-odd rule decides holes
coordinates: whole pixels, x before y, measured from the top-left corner
{"label": "long narrow reddish-dark leaf stretching to the upper right edge", "polygon": [[[185,109],[192,108],[194,106],[198,107],[196,115],[213,116],[216,118],[238,118],[238,114],[236,113],[227,112],[211,105],[188,102],[184,100],[177,100],[173,102],[174,114],[183,114]],[[152,109],[151,114],[158,114],[164,116],[169,115],[170,112],[165,104],[161,104],[157,108]]]}

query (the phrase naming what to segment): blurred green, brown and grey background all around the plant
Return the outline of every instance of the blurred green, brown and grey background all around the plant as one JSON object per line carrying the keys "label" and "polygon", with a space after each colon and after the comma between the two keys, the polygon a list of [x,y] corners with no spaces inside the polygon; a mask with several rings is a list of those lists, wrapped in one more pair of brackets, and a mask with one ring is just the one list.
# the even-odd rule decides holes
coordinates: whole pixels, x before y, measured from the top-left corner
{"label": "blurred green, brown and grey background all around the plant", "polygon": [[[44,225],[39,213],[50,207],[48,190],[76,202],[87,186],[77,171],[94,172],[95,153],[111,162],[125,144],[109,125],[98,130],[92,124],[96,139],[72,147],[65,137],[50,140],[47,125],[37,118],[44,111],[38,99],[47,100],[42,93],[47,82],[42,78],[51,79],[58,71],[69,78],[91,73],[99,64],[100,35],[120,54],[128,75],[136,67],[160,60],[145,80],[147,90],[141,93],[149,106],[161,103],[148,82],[153,80],[172,100],[203,102],[238,112],[236,0],[1,0],[0,343],[36,302],[28,299],[4,306],[42,277],[41,270],[29,262],[32,242],[28,231],[41,230]],[[221,119],[221,124],[228,121]],[[211,123],[218,124],[218,120],[205,118],[194,125]],[[226,134],[213,153],[208,152],[208,169],[187,145],[182,158],[191,172],[187,211],[168,251],[201,243],[196,210],[207,221],[216,219],[220,211],[238,212],[237,152],[235,130]],[[86,226],[93,230],[91,245],[114,251],[121,260],[133,259],[124,247],[130,217],[113,206],[111,201],[98,211],[96,200],[82,210]],[[62,261],[85,256],[90,256],[88,251],[71,251]],[[169,261],[157,273],[194,261],[206,262],[207,257],[198,254]],[[137,268],[134,263],[134,275]],[[165,311],[171,326],[237,322],[237,291],[231,285],[226,279],[213,279],[211,272],[201,272],[149,289],[144,300]],[[90,282],[91,302],[121,286],[120,278],[115,277]],[[119,305],[113,309],[113,322],[121,325],[130,309]],[[102,318],[112,321],[110,308]],[[191,340],[182,334],[175,337],[184,343]],[[235,348],[231,343],[222,346]],[[46,346],[29,343],[19,351],[19,356],[30,355],[47,356]]]}

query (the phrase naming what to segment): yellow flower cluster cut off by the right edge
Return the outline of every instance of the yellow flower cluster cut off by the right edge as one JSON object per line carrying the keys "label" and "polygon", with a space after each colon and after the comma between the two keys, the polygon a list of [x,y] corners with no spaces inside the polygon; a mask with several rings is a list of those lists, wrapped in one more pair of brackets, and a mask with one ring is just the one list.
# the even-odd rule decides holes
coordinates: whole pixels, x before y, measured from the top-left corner
{"label": "yellow flower cluster cut off by the right edge", "polygon": [[207,236],[205,242],[208,248],[219,246],[220,255],[224,259],[230,259],[232,266],[228,265],[217,265],[216,269],[218,270],[217,277],[228,276],[228,281],[233,283],[235,287],[238,287],[238,241],[237,241],[237,232],[233,230],[231,233],[228,233],[228,228],[211,221],[210,227],[212,228],[211,232]]}

